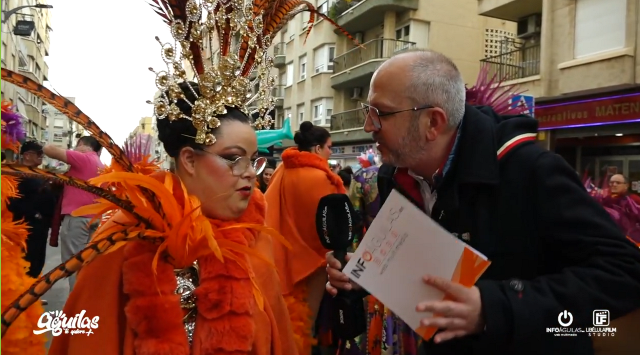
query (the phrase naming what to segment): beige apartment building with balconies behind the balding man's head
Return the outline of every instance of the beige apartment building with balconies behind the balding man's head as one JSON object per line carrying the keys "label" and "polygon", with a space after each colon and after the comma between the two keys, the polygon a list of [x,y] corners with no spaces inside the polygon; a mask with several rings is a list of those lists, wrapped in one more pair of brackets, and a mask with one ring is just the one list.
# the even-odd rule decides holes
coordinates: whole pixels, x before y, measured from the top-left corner
{"label": "beige apartment building with balconies behind the balding man's head", "polygon": [[342,166],[375,148],[362,130],[360,104],[367,100],[373,73],[388,58],[413,48],[436,50],[452,58],[473,84],[478,61],[487,47],[497,46],[495,38],[515,37],[514,23],[479,16],[476,3],[466,0],[317,0],[315,5],[364,48],[328,21],[318,21],[309,38],[306,14],[289,22],[273,46],[280,79],[278,121],[289,116],[294,130],[302,121],[329,129],[333,159]]}

